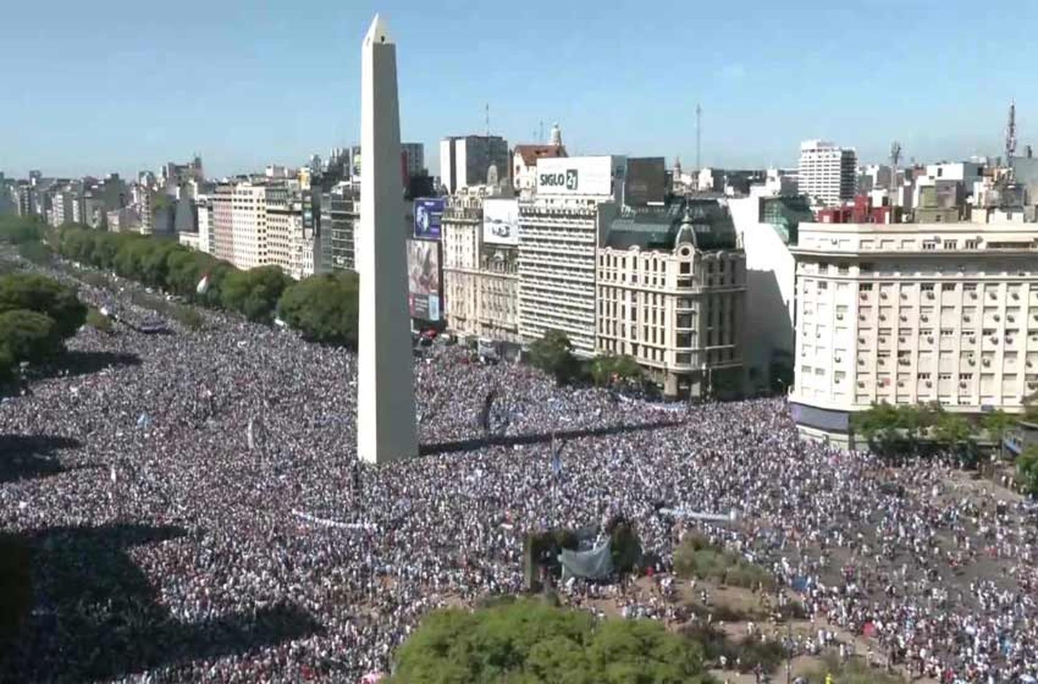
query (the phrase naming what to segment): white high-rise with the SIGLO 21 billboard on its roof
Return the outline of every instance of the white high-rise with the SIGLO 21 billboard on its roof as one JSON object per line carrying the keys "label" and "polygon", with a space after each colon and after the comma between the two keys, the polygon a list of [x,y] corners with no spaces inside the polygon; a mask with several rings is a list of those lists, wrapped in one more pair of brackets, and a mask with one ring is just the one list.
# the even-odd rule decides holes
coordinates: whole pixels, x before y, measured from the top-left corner
{"label": "white high-rise with the SIGLO 21 billboard on its roof", "polygon": [[565,332],[595,353],[596,250],[620,206],[626,158],[539,159],[532,199],[519,201],[519,333]]}

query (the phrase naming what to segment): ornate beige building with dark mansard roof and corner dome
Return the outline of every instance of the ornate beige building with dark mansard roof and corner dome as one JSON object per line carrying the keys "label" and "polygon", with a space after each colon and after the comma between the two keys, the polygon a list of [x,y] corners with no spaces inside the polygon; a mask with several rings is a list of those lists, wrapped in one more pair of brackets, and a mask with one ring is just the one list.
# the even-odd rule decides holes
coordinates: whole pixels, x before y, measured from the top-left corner
{"label": "ornate beige building with dark mansard roof and corner dome", "polygon": [[667,396],[741,391],[746,257],[726,207],[625,210],[597,259],[597,352],[633,356]]}

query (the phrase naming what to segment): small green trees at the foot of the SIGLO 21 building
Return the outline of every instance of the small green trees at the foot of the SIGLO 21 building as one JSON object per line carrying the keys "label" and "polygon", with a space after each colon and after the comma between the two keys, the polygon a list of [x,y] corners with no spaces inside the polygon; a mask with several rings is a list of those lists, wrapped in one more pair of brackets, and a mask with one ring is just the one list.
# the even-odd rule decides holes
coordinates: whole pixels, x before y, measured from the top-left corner
{"label": "small green trees at the foot of the SIGLO 21 building", "polygon": [[565,332],[547,330],[529,346],[529,362],[554,376],[561,385],[591,382],[598,387],[640,388],[645,374],[630,356],[603,354],[581,360]]}

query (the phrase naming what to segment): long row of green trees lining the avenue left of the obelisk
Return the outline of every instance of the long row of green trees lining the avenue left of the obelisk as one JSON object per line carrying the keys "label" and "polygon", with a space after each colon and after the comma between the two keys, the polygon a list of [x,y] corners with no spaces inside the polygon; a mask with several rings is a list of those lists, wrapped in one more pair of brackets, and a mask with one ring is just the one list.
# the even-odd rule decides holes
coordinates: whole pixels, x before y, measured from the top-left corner
{"label": "long row of green trees lining the avenue left of the obelisk", "polygon": [[275,316],[307,339],[355,347],[358,286],[354,273],[296,282],[276,266],[247,271],[168,239],[64,226],[48,237],[65,258],[112,271],[203,306],[249,321]]}

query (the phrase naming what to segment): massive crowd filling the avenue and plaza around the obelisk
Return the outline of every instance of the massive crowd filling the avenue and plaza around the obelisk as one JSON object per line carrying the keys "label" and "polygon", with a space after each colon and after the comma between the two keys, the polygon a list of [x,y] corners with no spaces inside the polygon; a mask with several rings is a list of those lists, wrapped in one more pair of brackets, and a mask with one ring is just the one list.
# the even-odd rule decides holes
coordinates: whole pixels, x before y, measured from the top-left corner
{"label": "massive crowd filling the avenue and plaza around the obelisk", "polygon": [[[695,525],[795,587],[812,621],[914,673],[1038,674],[1035,519],[1008,493],[957,491],[939,463],[890,470],[803,443],[782,400],[675,411],[436,347],[415,359],[436,453],[358,466],[353,354],[206,319],[84,329],[70,348],[109,367],[0,405],[0,435],[76,440],[54,452],[60,472],[0,483],[0,527],[36,551],[0,679],[356,682],[431,608],[521,591],[525,530],[618,513],[664,573]],[[503,438],[472,443],[492,390]],[[740,519],[675,521],[661,501]]]}

